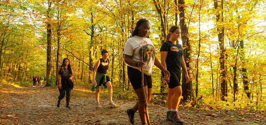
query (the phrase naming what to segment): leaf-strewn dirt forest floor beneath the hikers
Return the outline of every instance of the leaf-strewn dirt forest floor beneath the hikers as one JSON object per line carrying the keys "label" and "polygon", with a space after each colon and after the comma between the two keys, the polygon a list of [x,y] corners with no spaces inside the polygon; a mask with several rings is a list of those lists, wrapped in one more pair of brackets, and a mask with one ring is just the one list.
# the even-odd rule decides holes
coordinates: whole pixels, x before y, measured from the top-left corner
{"label": "leaf-strewn dirt forest floor beneath the hikers", "polygon": [[[134,93],[132,93],[134,94]],[[89,88],[75,85],[71,93],[71,110],[65,109],[65,98],[59,108],[56,100],[59,91],[55,86],[18,86],[0,83],[0,124],[1,125],[130,125],[125,113],[136,100],[114,98],[118,105],[107,107],[107,98],[100,97],[103,108],[96,109],[94,93]],[[166,107],[149,103],[152,125],[174,125],[166,121]],[[264,112],[230,110],[192,110],[179,107],[181,120],[185,125],[265,125]],[[140,125],[138,112],[135,124]]]}

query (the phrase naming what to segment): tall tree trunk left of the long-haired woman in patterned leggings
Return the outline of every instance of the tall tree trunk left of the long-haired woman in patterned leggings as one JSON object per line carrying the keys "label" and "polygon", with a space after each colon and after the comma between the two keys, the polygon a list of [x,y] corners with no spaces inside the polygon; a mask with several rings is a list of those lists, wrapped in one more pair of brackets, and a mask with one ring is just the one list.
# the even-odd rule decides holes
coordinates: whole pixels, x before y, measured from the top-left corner
{"label": "tall tree trunk left of the long-haired woman in patterned leggings", "polygon": [[46,84],[45,86],[51,86],[51,73],[52,73],[52,30],[51,30],[51,5],[52,2],[47,0],[48,2],[48,10],[47,10],[47,62],[46,62]]}

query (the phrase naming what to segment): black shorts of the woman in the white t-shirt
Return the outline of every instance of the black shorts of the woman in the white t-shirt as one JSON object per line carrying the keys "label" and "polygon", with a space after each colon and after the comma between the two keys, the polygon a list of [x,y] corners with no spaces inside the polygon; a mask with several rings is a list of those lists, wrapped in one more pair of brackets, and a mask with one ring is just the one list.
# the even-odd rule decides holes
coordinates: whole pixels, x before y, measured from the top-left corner
{"label": "black shorts of the woman in the white t-shirt", "polygon": [[[141,88],[141,71],[128,66],[127,75],[134,90]],[[144,86],[148,85],[148,88],[151,88],[152,86],[151,76],[145,74],[143,74],[143,76],[144,76]]]}

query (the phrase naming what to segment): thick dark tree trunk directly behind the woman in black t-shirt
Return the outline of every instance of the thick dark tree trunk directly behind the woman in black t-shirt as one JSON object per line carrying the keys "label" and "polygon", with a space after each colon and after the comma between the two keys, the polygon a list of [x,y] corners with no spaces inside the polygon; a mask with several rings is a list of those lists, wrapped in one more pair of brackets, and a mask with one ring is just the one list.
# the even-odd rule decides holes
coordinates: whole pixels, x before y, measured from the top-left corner
{"label": "thick dark tree trunk directly behind the woman in black t-shirt", "polygon": [[[185,7],[181,5],[185,5],[184,0],[178,0],[178,10],[179,10],[179,18],[180,18],[180,28],[181,28],[181,35],[182,35],[182,44],[183,44],[183,53],[184,53],[184,59],[187,66],[187,72],[189,77],[191,78],[190,69],[191,69],[191,44],[188,38],[188,26],[186,22],[185,17]],[[188,100],[193,95],[193,88],[192,88],[192,81],[189,83],[186,83],[185,73],[182,72],[182,96],[183,100]]]}

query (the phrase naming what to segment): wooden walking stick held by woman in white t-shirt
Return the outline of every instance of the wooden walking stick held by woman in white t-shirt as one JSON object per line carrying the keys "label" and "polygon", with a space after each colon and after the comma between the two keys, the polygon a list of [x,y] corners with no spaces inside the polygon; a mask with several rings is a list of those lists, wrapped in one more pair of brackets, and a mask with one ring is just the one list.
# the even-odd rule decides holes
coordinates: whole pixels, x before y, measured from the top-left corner
{"label": "wooden walking stick held by woman in white t-shirt", "polygon": [[[142,53],[141,53],[141,62],[143,61],[143,48],[142,48]],[[144,75],[143,75],[143,68],[141,68],[141,87],[142,87],[142,92],[143,92],[143,96],[144,96],[144,102],[145,102],[145,115],[146,115],[146,119],[147,119],[147,123],[148,125],[151,125],[150,123],[150,118],[149,118],[149,113],[148,113],[148,101],[146,98],[146,93],[145,93],[145,88],[144,88]]]}

